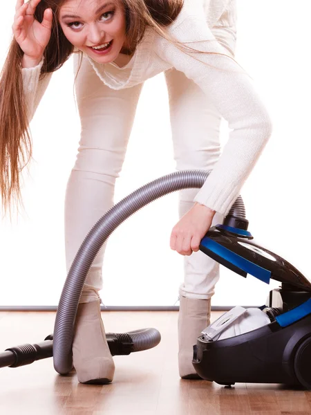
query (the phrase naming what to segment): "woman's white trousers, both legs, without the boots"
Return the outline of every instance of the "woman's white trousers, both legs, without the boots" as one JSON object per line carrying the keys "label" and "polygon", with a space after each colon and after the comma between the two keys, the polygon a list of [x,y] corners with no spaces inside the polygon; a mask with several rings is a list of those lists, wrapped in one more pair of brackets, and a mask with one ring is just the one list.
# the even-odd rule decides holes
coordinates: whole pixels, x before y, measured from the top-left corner
{"label": "woman's white trousers, both legs, without the boots", "polygon": [[[228,18],[227,12],[214,28],[214,35],[232,55],[235,43],[233,20],[232,16]],[[170,69],[165,77],[176,169],[213,169],[220,155],[219,114],[209,97],[183,73]],[[82,59],[75,88],[82,131],[77,160],[66,191],[68,270],[86,234],[113,205],[115,179],[122,169],[142,84],[120,91],[110,89],[96,75],[88,60]],[[197,189],[180,192],[180,216],[194,204],[196,192]],[[219,214],[215,215],[214,223],[222,220]],[[98,298],[97,291],[102,289],[104,250],[105,246],[91,266],[80,302]],[[194,252],[185,257],[185,281],[180,286],[180,294],[209,299],[218,279],[218,264],[202,252]]]}

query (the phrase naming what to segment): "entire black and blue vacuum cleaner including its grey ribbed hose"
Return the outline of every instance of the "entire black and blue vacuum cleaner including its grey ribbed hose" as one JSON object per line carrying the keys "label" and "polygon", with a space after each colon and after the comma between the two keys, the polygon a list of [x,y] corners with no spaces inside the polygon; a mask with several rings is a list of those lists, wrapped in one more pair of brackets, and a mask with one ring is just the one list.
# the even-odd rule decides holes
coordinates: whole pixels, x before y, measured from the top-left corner
{"label": "entire black and blue vacuum cleaner including its grey ribbed hose", "polygon": [[[15,358],[19,354],[17,360],[20,364],[22,360],[32,362],[53,354],[55,370],[62,375],[68,374],[73,367],[71,347],[77,306],[97,252],[117,226],[144,205],[171,192],[200,188],[208,174],[201,170],[168,174],[140,187],[106,212],[84,239],[70,267],[57,308],[53,336],[46,340],[50,342],[49,351],[46,352],[42,344],[8,349],[0,353],[0,367],[5,365],[5,360],[6,363],[12,362],[12,354]],[[254,275],[267,284],[273,278],[281,282],[281,288],[272,290],[267,304],[261,308],[245,310],[237,307],[202,331],[194,345],[192,363],[201,378],[220,385],[273,382],[303,385],[309,389],[311,284],[285,259],[259,246],[247,228],[245,207],[238,196],[224,223],[211,228],[202,239],[200,250],[238,275]],[[261,322],[258,326],[259,315]],[[256,317],[256,324],[253,317]],[[246,333],[244,324],[243,333],[236,335],[235,330],[233,335],[228,334],[237,322],[242,327],[247,321],[251,322],[251,329]],[[134,338],[126,338],[126,333],[115,335],[117,338],[124,336],[125,345],[118,348],[119,354],[123,354],[123,347],[124,354],[129,354],[160,342],[160,333],[155,329],[132,333]],[[114,333],[109,334],[109,348],[117,354],[112,350]]]}

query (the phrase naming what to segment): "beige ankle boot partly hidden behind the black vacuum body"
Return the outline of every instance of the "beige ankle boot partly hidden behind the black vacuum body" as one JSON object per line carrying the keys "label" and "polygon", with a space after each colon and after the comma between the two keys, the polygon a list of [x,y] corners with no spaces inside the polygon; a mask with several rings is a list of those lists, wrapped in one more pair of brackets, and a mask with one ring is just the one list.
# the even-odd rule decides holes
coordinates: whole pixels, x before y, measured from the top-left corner
{"label": "beige ankle boot partly hidden behind the black vacuum body", "polygon": [[192,365],[194,344],[202,330],[209,326],[211,300],[180,295],[178,314],[178,369],[180,378],[200,379]]}

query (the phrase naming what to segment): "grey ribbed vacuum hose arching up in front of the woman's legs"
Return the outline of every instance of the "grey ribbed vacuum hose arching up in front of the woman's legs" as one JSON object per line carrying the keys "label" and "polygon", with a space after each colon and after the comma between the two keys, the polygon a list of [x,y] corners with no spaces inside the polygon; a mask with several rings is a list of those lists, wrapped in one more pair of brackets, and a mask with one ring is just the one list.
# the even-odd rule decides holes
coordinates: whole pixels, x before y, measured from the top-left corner
{"label": "grey ribbed vacuum hose arching up in front of the woman's legs", "polygon": [[[88,232],[70,267],[57,308],[53,335],[53,360],[55,370],[59,374],[68,374],[73,367],[71,347],[77,306],[88,270],[102,245],[125,219],[140,208],[165,194],[182,189],[200,188],[208,175],[209,172],[202,170],[184,170],[158,178],[114,205]],[[237,216],[245,217],[241,196],[238,196],[229,214],[234,214],[236,211]]]}

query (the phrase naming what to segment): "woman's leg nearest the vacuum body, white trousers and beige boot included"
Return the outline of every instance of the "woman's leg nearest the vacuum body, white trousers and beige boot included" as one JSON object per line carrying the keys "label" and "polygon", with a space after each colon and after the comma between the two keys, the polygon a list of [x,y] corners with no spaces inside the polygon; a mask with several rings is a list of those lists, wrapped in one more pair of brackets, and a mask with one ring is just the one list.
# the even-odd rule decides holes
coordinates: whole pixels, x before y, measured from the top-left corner
{"label": "woman's leg nearest the vacuum body, white trousers and beige boot included", "polygon": [[[235,0],[213,28],[216,39],[234,54],[236,39]],[[213,169],[220,155],[220,116],[200,88],[174,69],[166,73],[171,112],[171,129],[176,168]],[[197,190],[180,192],[179,214],[193,205]],[[213,225],[223,217],[216,214]],[[211,296],[219,279],[219,265],[202,252],[185,257],[185,280],[180,286],[178,315],[178,367],[180,377],[198,378],[191,360],[193,345],[200,332],[209,325]]]}

